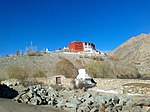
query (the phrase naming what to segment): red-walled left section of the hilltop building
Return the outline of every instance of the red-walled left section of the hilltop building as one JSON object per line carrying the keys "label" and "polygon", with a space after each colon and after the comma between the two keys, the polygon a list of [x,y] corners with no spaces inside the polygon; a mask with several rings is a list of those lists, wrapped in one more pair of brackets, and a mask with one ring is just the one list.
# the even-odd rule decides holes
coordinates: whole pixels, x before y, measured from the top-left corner
{"label": "red-walled left section of the hilltop building", "polygon": [[69,50],[73,51],[84,51],[83,42],[72,42],[68,44]]}

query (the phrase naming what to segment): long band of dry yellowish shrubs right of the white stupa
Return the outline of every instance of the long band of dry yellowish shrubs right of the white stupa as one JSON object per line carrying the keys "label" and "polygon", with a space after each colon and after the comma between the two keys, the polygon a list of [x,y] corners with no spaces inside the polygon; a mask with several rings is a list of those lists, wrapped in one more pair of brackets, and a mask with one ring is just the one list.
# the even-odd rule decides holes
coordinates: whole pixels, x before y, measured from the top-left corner
{"label": "long band of dry yellowish shrubs right of the white stupa", "polygon": [[86,64],[87,72],[95,78],[139,79],[138,69],[125,62],[94,61]]}

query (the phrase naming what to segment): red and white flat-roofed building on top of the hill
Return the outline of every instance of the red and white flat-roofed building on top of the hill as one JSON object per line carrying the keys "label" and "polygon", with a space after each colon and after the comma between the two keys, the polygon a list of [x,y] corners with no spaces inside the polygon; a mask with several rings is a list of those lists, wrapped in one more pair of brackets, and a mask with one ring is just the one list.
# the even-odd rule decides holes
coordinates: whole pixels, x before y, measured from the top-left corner
{"label": "red and white flat-roofed building on top of the hill", "polygon": [[90,42],[73,41],[68,44],[68,49],[76,52],[93,51],[95,50],[95,45]]}

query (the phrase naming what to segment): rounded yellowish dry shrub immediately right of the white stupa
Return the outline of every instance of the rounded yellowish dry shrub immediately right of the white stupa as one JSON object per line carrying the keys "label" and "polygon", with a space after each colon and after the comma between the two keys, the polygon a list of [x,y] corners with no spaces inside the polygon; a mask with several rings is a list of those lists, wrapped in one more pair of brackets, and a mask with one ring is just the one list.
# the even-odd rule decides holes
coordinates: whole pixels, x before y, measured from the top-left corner
{"label": "rounded yellowish dry shrub immediately right of the white stupa", "polygon": [[94,78],[107,78],[113,74],[109,64],[102,61],[89,62],[85,66],[87,73]]}

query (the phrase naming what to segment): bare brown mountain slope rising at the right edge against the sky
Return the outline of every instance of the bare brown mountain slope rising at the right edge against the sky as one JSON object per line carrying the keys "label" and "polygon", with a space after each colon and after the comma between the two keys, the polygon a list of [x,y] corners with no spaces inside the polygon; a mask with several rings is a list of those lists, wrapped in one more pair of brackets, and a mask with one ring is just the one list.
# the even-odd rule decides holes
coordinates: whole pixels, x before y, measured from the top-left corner
{"label": "bare brown mountain slope rising at the right edge against the sky", "polygon": [[110,54],[115,59],[135,64],[143,72],[149,71],[150,34],[132,37]]}

